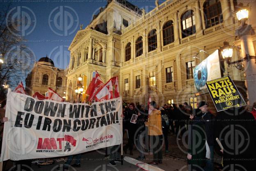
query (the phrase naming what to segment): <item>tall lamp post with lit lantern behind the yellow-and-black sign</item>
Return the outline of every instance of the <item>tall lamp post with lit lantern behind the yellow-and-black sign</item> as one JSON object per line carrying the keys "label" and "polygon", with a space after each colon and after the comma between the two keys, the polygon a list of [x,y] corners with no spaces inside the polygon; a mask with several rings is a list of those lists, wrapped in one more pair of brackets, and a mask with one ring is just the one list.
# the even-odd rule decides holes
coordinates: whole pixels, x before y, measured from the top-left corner
{"label": "tall lamp post with lit lantern behind the yellow-and-black sign", "polygon": [[[241,40],[242,61],[245,67],[245,79],[247,83],[247,93],[249,96],[249,105],[256,101],[256,58],[255,50],[251,35],[254,35],[254,29],[246,23],[249,16],[248,6],[238,5],[241,10],[236,13],[241,26],[235,30],[235,36],[239,36]],[[254,59],[254,60],[252,60]]]}

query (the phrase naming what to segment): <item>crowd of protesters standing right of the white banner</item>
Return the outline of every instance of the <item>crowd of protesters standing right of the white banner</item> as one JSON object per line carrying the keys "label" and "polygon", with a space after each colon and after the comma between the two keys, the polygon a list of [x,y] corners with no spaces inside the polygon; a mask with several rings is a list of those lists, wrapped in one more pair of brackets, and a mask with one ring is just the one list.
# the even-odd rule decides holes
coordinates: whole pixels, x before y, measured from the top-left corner
{"label": "crowd of protesters standing right of the white banner", "polygon": [[[0,114],[1,123],[8,121],[8,118],[4,117],[5,109],[1,108]],[[162,164],[162,151],[169,153],[168,136],[172,134],[177,141],[181,139],[187,141],[187,161],[191,171],[213,171],[214,153],[216,152],[223,155],[224,168],[231,164],[239,164],[246,171],[251,171],[254,168],[253,162],[256,161],[256,103],[253,104],[252,112],[249,112],[246,107],[237,107],[212,114],[205,101],[197,103],[196,109],[186,102],[183,105],[165,104],[162,107],[155,101],[150,102],[146,107],[124,102],[122,118],[123,136],[127,134],[128,137],[123,151],[127,154],[129,150],[129,154],[134,155],[134,147],[136,147],[139,151],[137,160],[145,160],[145,154],[151,152],[153,161],[149,164]],[[234,131],[236,126],[242,128],[244,132],[237,135]],[[1,124],[2,129],[3,124]],[[223,138],[224,130],[226,133],[224,132],[225,137]],[[232,131],[235,132],[233,140],[232,136],[229,136]],[[216,138],[222,142],[223,149],[218,148]],[[235,141],[240,141],[239,138],[242,138],[242,141],[249,139],[247,146],[242,147],[241,144],[238,144],[232,149],[232,145],[236,144]],[[0,140],[2,141],[2,138]],[[231,142],[227,143],[226,141]],[[242,147],[242,152],[236,152],[240,150],[240,147]],[[116,162],[120,162],[119,152],[120,145],[110,147],[110,153],[106,150],[110,156],[110,164],[116,165]],[[69,167],[73,158],[76,160],[75,164],[71,166],[80,167],[81,154],[78,154],[68,156],[66,165],[64,165],[66,168]]]}

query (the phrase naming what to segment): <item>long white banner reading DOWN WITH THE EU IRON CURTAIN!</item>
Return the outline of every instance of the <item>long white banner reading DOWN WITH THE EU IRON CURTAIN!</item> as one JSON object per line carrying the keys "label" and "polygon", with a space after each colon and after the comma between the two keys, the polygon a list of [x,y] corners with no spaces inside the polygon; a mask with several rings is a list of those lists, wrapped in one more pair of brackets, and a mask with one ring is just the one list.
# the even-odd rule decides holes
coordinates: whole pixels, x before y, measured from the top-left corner
{"label": "long white banner reading DOWN WITH THE EU IRON CURTAIN!", "polygon": [[59,157],[121,144],[121,98],[88,105],[8,91],[1,161]]}

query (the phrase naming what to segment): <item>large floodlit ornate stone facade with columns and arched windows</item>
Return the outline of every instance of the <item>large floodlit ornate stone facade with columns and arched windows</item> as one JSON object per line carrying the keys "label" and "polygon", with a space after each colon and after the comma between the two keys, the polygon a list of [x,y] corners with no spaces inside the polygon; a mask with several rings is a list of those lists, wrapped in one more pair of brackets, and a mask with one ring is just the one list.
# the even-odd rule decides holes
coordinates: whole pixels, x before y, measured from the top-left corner
{"label": "large floodlit ornate stone facade with columns and arched windows", "polygon": [[[210,98],[195,96],[193,68],[224,41],[238,46],[232,60],[241,58],[235,37],[238,1],[167,0],[155,5],[146,14],[125,0],[109,0],[77,32],[69,47],[68,101],[76,97],[78,76],[85,75],[86,89],[95,70],[104,81],[119,76],[126,102],[146,104],[151,96],[160,105],[187,102],[196,107],[197,101]],[[255,40],[253,36],[254,45]],[[242,70],[223,64],[223,75],[245,81]]]}

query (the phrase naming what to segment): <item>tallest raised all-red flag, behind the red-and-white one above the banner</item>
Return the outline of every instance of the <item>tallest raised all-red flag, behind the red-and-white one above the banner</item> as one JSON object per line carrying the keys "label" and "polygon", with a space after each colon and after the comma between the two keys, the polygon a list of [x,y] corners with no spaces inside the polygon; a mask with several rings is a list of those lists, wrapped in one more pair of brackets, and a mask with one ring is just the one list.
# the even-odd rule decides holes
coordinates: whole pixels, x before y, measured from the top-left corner
{"label": "tallest raised all-red flag, behind the red-and-white one above the banner", "polygon": [[90,84],[89,84],[89,86],[88,86],[88,88],[85,92],[86,94],[89,95],[88,102],[90,102],[94,98],[96,92],[99,89],[101,89],[101,87],[103,87],[103,86],[104,86],[104,83],[101,80],[101,76],[98,74],[97,71],[95,71],[95,73],[92,77],[92,80],[91,80],[91,82],[90,82]]}

